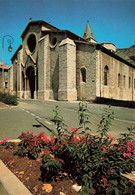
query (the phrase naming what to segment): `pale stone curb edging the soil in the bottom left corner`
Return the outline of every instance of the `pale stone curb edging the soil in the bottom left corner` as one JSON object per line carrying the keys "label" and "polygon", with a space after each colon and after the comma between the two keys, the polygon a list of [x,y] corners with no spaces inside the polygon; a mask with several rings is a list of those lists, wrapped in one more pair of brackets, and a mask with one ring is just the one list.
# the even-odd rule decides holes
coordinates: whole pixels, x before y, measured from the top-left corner
{"label": "pale stone curb edging the soil in the bottom left corner", "polygon": [[22,182],[0,160],[0,194],[2,195],[32,195]]}

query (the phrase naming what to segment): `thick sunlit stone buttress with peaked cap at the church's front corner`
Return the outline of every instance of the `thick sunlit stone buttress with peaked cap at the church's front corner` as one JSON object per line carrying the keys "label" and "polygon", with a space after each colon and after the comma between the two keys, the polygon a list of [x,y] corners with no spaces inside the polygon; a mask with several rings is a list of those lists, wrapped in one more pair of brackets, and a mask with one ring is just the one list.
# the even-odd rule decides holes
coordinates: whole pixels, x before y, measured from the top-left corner
{"label": "thick sunlit stone buttress with peaked cap at the church's front corner", "polygon": [[59,90],[58,100],[77,100],[76,90],[76,45],[66,38],[59,45]]}

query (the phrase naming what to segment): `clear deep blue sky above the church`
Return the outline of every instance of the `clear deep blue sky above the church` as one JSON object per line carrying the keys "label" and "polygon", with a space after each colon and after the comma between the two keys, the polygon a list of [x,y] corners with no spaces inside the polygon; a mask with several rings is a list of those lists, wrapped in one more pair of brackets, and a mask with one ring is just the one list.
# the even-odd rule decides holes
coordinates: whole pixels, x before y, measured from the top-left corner
{"label": "clear deep blue sky above the church", "polygon": [[135,44],[135,0],[0,0],[0,61],[3,36],[14,38],[11,53],[4,39],[4,63],[8,66],[30,17],[81,37],[89,20],[98,43],[112,42],[117,48]]}

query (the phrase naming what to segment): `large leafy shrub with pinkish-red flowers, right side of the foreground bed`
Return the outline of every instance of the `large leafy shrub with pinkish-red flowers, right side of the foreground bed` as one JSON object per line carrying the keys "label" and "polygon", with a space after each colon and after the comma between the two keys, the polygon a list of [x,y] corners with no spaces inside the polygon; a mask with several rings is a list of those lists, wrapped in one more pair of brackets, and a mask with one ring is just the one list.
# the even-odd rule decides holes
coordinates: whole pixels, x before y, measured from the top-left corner
{"label": "large leafy shrub with pinkish-red flowers, right side of the foreground bed", "polygon": [[[80,127],[71,129],[66,135],[53,131],[57,142],[50,140],[50,150],[55,158],[63,160],[62,170],[83,186],[82,194],[134,193],[134,182],[122,173],[135,170],[135,142],[131,138],[135,128],[129,128],[127,134],[114,142],[115,138],[108,135],[113,118],[113,111],[106,109],[98,125],[98,135],[93,136],[87,125],[87,104],[81,102]],[[83,135],[77,136],[80,128]]]}

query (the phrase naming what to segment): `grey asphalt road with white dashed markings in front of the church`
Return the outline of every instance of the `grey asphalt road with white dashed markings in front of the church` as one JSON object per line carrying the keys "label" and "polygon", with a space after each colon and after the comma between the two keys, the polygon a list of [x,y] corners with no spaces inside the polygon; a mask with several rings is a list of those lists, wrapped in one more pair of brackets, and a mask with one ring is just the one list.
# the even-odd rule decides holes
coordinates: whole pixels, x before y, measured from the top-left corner
{"label": "grey asphalt road with white dashed markings in front of the church", "polygon": [[[34,134],[43,131],[50,136],[49,129],[55,129],[52,119],[56,105],[59,106],[60,114],[68,125],[68,130],[79,127],[78,102],[20,100],[16,107],[0,107],[0,139],[16,139],[22,131],[33,131]],[[97,131],[97,124],[105,108],[108,106],[88,103],[91,122],[89,127],[93,134]],[[127,127],[135,125],[135,109],[115,106],[111,109],[115,113],[115,119],[112,121],[109,133],[118,138],[120,133],[126,132]]]}

